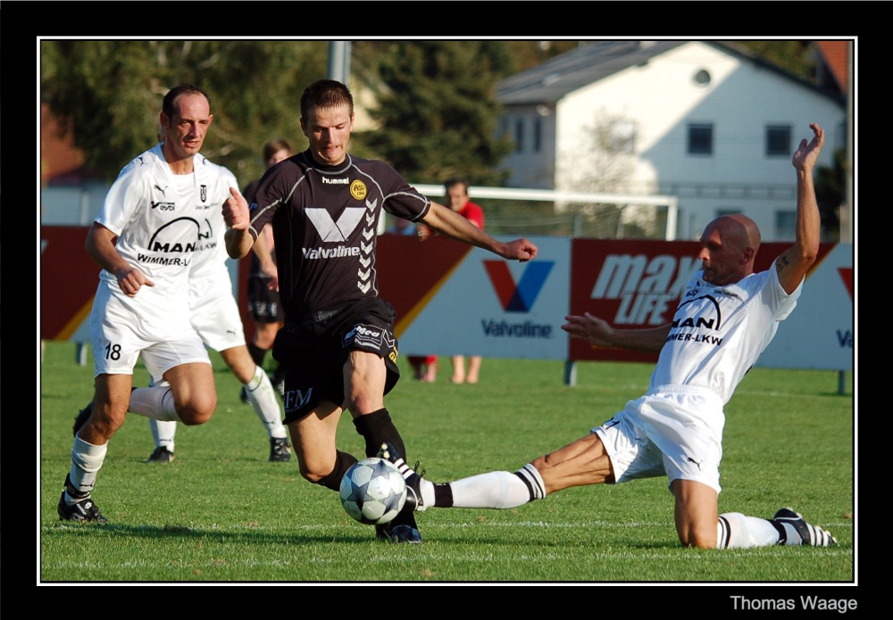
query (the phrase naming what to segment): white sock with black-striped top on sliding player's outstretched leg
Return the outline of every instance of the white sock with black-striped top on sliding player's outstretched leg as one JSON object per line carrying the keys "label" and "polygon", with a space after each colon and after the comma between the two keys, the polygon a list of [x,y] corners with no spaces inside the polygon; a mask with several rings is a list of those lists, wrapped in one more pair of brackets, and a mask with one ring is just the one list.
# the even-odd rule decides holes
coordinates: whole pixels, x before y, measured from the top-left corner
{"label": "white sock with black-striped top on sliding player's outstretched leg", "polygon": [[450,483],[450,489],[454,508],[517,508],[546,496],[542,478],[531,465],[515,474],[492,471],[472,475]]}

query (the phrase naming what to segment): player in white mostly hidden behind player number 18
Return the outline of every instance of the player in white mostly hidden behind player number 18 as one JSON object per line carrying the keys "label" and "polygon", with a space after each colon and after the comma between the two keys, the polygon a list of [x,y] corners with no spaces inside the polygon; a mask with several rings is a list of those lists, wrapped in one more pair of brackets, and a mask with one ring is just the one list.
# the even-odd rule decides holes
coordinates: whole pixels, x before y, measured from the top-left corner
{"label": "player in white mostly hidden behind player number 18", "polygon": [[[162,132],[158,139],[163,142]],[[235,178],[232,181],[235,182]],[[282,425],[280,404],[263,366],[257,364],[249,354],[238,304],[232,294],[230,270],[227,268],[229,256],[223,244],[226,226],[222,212],[216,208],[208,211],[210,212],[204,214],[204,217],[212,223],[212,239],[217,243],[211,249],[193,254],[189,271],[192,326],[196,328],[205,346],[220,352],[223,361],[241,382],[241,393],[245,401],[254,407],[270,438],[269,459],[272,462],[288,462],[291,447],[288,443],[288,431]],[[263,244],[257,247],[257,251],[263,251]],[[255,257],[254,252],[252,256]],[[166,385],[156,376],[152,377],[152,384]],[[155,448],[146,463],[170,463],[174,458],[177,423],[150,417],[149,430],[152,432]]]}

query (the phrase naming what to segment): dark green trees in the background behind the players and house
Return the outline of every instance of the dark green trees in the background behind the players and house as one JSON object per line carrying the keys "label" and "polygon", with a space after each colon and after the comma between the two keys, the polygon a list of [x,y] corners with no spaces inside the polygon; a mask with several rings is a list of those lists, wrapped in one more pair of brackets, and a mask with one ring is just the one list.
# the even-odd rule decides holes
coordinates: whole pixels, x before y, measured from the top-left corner
{"label": "dark green trees in the background behind the players and house", "polygon": [[[805,41],[739,41],[801,77],[814,74]],[[464,176],[501,186],[496,168],[512,149],[496,136],[499,79],[529,69],[580,41],[356,41],[352,75],[378,97],[380,127],[356,131],[352,151],[389,161],[416,183]],[[263,173],[273,138],[305,145],[301,92],[326,77],[326,41],[44,40],[41,101],[49,104],[87,169],[111,182],[154,144],[163,95],[193,82],[212,99],[203,152],[247,184]]]}

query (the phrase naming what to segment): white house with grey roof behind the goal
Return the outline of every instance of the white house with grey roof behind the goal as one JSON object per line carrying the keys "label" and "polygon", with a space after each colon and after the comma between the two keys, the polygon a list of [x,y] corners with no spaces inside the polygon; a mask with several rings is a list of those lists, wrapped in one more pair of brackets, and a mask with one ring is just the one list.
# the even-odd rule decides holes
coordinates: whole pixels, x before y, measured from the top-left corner
{"label": "white house with grey roof behind the goal", "polygon": [[765,241],[793,239],[790,156],[809,123],[820,166],[845,148],[847,105],[718,41],[594,41],[497,85],[516,150],[507,185],[678,198],[677,238],[744,212]]}

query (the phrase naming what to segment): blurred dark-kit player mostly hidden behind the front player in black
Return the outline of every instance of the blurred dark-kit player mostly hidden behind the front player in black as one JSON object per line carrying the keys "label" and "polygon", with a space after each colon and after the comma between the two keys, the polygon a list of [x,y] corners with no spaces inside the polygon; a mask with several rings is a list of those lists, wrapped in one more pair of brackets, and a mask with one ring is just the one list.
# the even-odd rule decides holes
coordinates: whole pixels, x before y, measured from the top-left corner
{"label": "blurred dark-kit player mostly hidden behind the front player in black", "polygon": [[[271,140],[263,145],[263,163],[268,169],[275,166],[280,161],[291,157],[291,145],[287,140]],[[250,204],[255,200],[255,190],[257,189],[257,180],[252,181],[246,186],[243,195]],[[271,228],[263,231],[264,239],[267,243],[267,250],[271,260],[272,269],[275,269],[276,254],[273,242],[273,233]],[[255,324],[255,333],[248,342],[248,352],[251,353],[251,359],[255,360],[255,364],[263,368],[263,361],[273,346],[276,339],[276,333],[285,323],[282,316],[282,306],[279,296],[279,287],[275,283],[275,278],[264,271],[264,265],[258,258],[256,252],[251,252],[251,267],[248,271],[248,280],[246,283],[248,294],[248,314]],[[269,270],[270,268],[268,268]],[[272,383],[276,391],[282,395],[284,380],[279,365],[272,372]],[[239,397],[242,402],[247,403],[248,398],[246,388],[243,386]]]}

